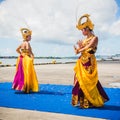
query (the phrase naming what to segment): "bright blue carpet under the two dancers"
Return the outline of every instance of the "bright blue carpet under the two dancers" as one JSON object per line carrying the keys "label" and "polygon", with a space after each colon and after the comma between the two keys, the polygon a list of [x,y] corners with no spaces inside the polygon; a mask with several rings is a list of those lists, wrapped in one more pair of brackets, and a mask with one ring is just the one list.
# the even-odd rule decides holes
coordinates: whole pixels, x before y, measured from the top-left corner
{"label": "bright blue carpet under the two dancers", "polygon": [[38,93],[25,94],[11,89],[12,83],[0,83],[0,106],[44,112],[120,120],[120,89],[105,88],[110,101],[103,108],[80,109],[71,105],[70,85],[41,84]]}

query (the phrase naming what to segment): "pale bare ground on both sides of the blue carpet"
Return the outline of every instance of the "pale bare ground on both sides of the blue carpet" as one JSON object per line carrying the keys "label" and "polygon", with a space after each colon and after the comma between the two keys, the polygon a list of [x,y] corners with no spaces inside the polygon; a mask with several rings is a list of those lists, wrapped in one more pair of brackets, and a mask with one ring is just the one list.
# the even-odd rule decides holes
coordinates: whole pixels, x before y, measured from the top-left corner
{"label": "pale bare ground on both sides of the blue carpet", "polygon": [[[74,66],[75,63],[35,65],[39,84],[72,85]],[[15,70],[16,68],[14,66],[0,67],[0,82],[13,82]],[[120,61],[99,61],[98,75],[99,81],[103,87],[120,88]],[[0,107],[0,120],[16,120],[15,116],[17,120],[61,120],[61,118],[62,120],[94,120],[89,117]]]}

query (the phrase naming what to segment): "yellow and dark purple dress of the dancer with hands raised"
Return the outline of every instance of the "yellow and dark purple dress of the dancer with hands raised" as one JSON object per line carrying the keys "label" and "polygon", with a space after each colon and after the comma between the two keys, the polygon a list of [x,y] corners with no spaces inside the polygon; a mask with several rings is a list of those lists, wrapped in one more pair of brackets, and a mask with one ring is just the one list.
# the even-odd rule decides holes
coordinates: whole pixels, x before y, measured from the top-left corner
{"label": "yellow and dark purple dress of the dancer with hands raised", "polygon": [[[84,45],[88,42],[85,40]],[[72,90],[72,105],[74,106],[80,104],[82,108],[102,107],[104,102],[109,100],[102,86],[99,85],[95,49],[85,50],[74,67],[75,77]],[[94,52],[90,53],[90,51]]]}

